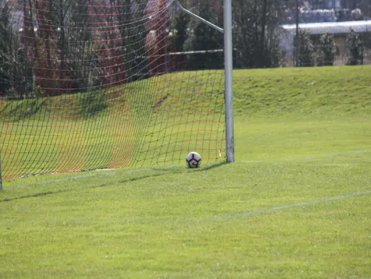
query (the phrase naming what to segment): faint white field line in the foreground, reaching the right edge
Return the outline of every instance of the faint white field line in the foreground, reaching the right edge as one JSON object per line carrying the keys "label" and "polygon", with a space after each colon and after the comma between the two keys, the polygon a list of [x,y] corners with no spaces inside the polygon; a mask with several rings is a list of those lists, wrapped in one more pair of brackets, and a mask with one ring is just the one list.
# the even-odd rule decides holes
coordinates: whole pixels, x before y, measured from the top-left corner
{"label": "faint white field line in the foreground, reaching the right edge", "polygon": [[271,207],[270,209],[258,209],[255,211],[247,211],[245,213],[239,213],[235,215],[214,216],[212,218],[199,219],[198,221],[205,222],[205,221],[219,221],[219,220],[233,220],[233,219],[248,218],[251,216],[257,216],[259,214],[268,214],[268,213],[272,213],[276,211],[281,211],[283,209],[292,209],[294,207],[304,207],[304,206],[310,206],[310,205],[315,205],[315,204],[322,204],[325,202],[334,202],[339,199],[347,199],[349,197],[358,197],[358,196],[370,195],[370,194],[371,194],[371,190],[365,190],[363,192],[354,192],[354,193],[349,193],[345,195],[338,195],[335,197],[326,197],[325,199],[317,199],[317,200],[309,201],[309,202],[299,202],[298,204],[285,204],[281,206],[274,206],[274,207]]}

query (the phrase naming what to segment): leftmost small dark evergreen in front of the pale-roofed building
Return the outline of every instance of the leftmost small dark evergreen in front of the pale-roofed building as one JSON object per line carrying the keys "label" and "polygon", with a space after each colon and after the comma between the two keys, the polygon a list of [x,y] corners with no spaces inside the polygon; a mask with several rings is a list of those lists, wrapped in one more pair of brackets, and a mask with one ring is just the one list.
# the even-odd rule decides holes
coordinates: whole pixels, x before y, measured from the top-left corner
{"label": "leftmost small dark evergreen in front of the pale-roofed building", "polygon": [[315,65],[315,48],[313,46],[312,40],[308,31],[305,29],[299,30],[299,38],[297,41],[297,54],[299,55],[299,65],[300,67],[312,67]]}

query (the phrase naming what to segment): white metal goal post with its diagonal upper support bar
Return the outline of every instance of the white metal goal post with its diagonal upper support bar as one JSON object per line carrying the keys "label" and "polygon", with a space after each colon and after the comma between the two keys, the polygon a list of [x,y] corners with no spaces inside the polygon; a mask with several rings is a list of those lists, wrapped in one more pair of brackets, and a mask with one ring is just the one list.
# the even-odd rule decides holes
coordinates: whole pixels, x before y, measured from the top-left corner
{"label": "white metal goal post with its diagonal upper support bar", "polygon": [[224,34],[224,71],[225,71],[225,102],[226,102],[226,155],[227,162],[235,162],[235,127],[233,119],[233,48],[232,48],[232,0],[224,0],[224,28],[217,27],[215,24],[191,13],[182,7],[179,0],[175,0],[177,6],[184,13],[207,24]]}

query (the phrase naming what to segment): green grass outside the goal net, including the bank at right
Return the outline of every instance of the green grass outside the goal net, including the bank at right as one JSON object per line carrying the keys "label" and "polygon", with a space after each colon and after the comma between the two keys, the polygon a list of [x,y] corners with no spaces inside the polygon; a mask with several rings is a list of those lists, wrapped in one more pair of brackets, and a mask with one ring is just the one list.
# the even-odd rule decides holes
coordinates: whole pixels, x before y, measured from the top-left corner
{"label": "green grass outside the goal net, including the bank at right", "polygon": [[233,164],[6,181],[0,278],[371,278],[370,76],[235,71]]}

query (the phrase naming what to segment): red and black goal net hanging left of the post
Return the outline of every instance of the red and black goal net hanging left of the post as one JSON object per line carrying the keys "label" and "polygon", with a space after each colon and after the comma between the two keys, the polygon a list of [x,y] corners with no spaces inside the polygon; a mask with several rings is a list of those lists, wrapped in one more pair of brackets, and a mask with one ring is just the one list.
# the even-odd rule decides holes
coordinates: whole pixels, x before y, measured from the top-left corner
{"label": "red and black goal net hanging left of the post", "polygon": [[[180,2],[223,27],[222,1]],[[0,0],[3,179],[224,160],[223,66],[175,0]]]}

